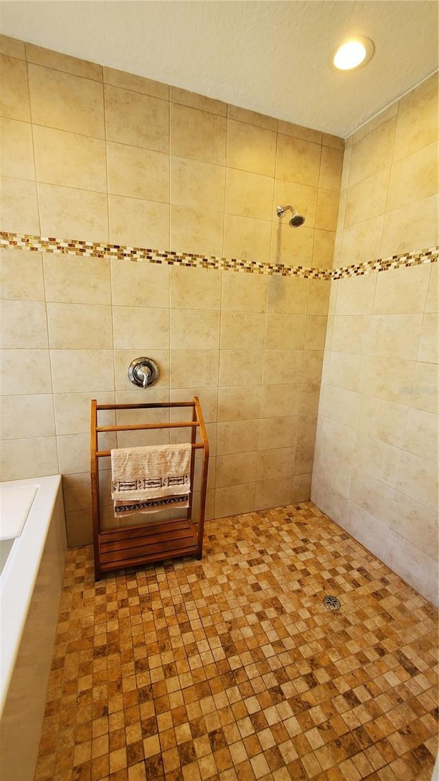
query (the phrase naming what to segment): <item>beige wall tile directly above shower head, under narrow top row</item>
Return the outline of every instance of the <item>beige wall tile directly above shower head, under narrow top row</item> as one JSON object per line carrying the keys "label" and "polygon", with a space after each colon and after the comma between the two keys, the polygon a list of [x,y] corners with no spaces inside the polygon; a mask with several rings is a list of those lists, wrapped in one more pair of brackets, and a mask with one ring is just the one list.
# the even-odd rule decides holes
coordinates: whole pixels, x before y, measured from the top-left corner
{"label": "beige wall tile directly above shower head, under narrow top row", "polygon": [[[322,147],[302,138],[279,134],[277,137],[276,176],[297,184],[317,187]],[[324,187],[324,184],[320,185]],[[329,189],[329,188],[328,188]]]}

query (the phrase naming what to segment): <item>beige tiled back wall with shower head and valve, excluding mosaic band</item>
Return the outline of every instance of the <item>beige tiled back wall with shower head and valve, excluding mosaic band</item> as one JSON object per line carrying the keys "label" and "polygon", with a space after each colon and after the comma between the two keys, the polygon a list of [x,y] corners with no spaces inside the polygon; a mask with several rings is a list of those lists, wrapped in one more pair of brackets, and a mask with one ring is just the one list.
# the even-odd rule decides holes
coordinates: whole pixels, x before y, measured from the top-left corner
{"label": "beige tiled back wall with shower head and valve, excluding mosaic band", "polygon": [[[21,41],[2,52],[0,230],[331,266],[341,139]],[[197,393],[209,516],[309,498],[324,281],[3,250],[2,298],[2,479],[62,473],[70,545],[91,539],[91,398]],[[161,369],[146,393],[126,377],[139,355]]]}

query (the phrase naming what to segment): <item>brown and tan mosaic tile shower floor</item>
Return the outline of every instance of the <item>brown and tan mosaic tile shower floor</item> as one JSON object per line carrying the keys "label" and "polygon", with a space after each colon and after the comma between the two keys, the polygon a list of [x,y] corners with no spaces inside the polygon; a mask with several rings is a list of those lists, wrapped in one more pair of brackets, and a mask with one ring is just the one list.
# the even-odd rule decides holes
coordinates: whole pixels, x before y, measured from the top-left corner
{"label": "brown and tan mosaic tile shower floor", "polygon": [[430,781],[436,662],[434,608],[311,502],[98,583],[75,548],[35,779]]}

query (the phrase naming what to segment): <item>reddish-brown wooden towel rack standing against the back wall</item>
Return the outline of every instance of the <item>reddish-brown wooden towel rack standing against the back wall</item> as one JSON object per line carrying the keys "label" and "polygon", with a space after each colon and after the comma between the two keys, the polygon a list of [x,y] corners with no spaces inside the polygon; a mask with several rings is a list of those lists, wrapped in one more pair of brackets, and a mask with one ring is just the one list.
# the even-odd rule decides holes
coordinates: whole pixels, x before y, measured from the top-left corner
{"label": "reddish-brown wooden towel rack standing against the back wall", "polygon": [[[108,409],[152,409],[183,407],[192,410],[191,420],[185,423],[135,423],[116,426],[98,426],[98,412]],[[109,456],[111,451],[99,450],[98,436],[111,431],[135,431],[145,429],[191,429],[191,492],[189,507],[184,518],[171,520],[148,520],[139,526],[122,526],[116,529],[101,529],[99,507],[98,459]],[[199,431],[201,441],[197,441]],[[200,508],[198,524],[192,521],[192,499],[194,489],[195,451],[202,450],[202,475],[200,487]],[[91,401],[91,512],[93,519],[93,542],[95,547],[95,579],[102,572],[125,569],[166,558],[196,555],[202,558],[205,519],[205,496],[207,470],[209,465],[209,443],[198,397],[192,401],[172,401],[156,404],[98,404]],[[145,515],[145,518],[148,516]],[[150,517],[154,517],[153,515]]]}

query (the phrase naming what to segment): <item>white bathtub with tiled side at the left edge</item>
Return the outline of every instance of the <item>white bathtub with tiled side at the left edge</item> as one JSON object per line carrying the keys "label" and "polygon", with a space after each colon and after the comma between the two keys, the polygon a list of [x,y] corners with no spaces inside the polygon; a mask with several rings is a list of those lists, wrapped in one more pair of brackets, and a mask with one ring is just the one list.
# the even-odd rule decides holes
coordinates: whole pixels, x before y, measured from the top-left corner
{"label": "white bathtub with tiled side at the left edge", "polygon": [[61,476],[0,483],[0,778],[34,779],[66,561]]}

